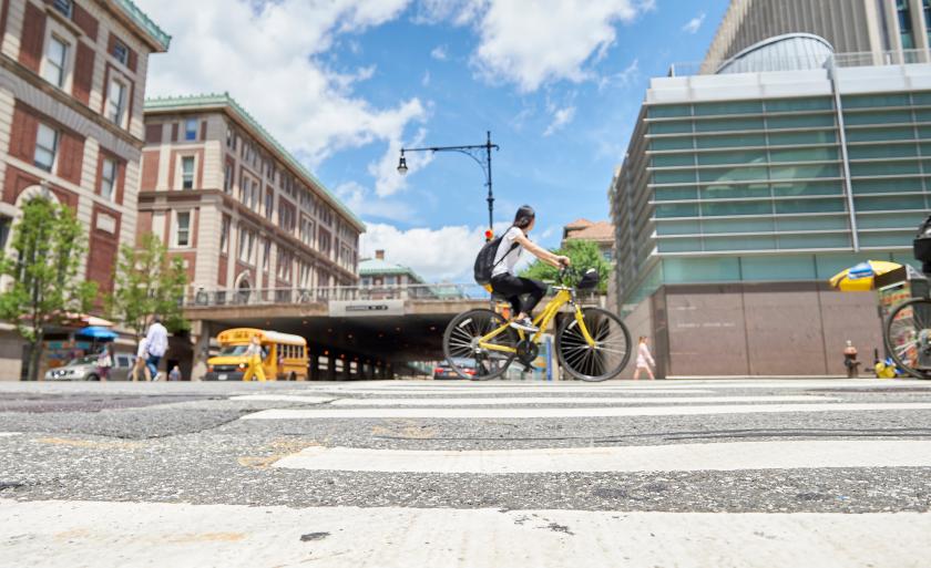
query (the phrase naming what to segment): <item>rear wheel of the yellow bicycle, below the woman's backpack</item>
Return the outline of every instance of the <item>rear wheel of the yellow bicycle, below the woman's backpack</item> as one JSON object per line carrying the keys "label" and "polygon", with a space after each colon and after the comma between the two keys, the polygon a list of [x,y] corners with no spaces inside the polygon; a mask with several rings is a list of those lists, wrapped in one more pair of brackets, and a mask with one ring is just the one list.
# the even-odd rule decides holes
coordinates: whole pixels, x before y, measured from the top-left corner
{"label": "rear wheel of the yellow bicycle, below the woman's backpack", "polygon": [[[491,310],[469,310],[453,318],[443,333],[443,354],[456,374],[473,381],[489,381],[504,374],[516,351],[482,348],[479,340],[507,323]],[[515,350],[518,341],[518,333],[508,328],[488,343]]]}

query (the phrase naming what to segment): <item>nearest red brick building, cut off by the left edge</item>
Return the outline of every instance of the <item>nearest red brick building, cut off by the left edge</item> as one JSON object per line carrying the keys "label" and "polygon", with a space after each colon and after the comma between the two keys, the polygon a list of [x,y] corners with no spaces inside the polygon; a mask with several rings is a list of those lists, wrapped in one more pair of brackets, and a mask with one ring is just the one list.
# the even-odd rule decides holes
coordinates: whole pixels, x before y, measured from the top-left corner
{"label": "nearest red brick building, cut off by the left edge", "polygon": [[[86,278],[109,291],[135,237],[147,60],[171,38],[130,0],[3,0],[0,35],[0,245],[21,204],[49,196],[88,227]],[[11,329],[0,360],[18,370]]]}

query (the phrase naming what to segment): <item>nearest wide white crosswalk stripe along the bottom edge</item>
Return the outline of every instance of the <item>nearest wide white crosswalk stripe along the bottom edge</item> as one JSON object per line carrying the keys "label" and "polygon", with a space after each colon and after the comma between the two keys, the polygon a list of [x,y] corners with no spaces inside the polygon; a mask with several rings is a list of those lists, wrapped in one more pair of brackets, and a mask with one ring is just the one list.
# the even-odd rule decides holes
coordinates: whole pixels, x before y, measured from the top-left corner
{"label": "nearest wide white crosswalk stripe along the bottom edge", "polygon": [[[931,514],[623,513],[0,500],[22,566],[919,568]],[[274,519],[270,523],[269,519]],[[441,529],[438,530],[438,527]]]}

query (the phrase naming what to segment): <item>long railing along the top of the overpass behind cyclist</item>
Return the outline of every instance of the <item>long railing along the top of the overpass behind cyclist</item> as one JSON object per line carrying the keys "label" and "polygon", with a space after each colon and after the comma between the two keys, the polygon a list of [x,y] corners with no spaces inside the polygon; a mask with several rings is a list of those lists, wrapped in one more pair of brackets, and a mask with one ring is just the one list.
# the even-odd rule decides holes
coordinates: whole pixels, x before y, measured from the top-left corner
{"label": "long railing along the top of the overpass behind cyclist", "polygon": [[[398,286],[336,286],[326,288],[197,289],[184,299],[190,308],[327,303],[331,300],[487,300],[488,291],[475,283]],[[581,293],[583,303],[604,303],[603,295]]]}

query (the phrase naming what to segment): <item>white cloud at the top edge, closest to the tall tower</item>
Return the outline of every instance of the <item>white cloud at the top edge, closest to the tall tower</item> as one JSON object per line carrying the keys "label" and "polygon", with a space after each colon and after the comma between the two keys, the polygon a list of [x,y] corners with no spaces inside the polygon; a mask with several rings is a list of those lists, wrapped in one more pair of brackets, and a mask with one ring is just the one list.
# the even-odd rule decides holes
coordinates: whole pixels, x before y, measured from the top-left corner
{"label": "white cloud at the top edge, closest to the tall tower", "polygon": [[585,81],[594,76],[586,64],[614,44],[615,24],[651,7],[634,0],[489,0],[473,22],[481,42],[472,64],[485,79],[514,83],[522,92],[560,80]]}

